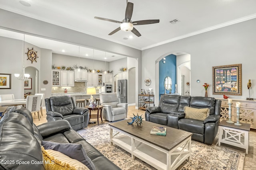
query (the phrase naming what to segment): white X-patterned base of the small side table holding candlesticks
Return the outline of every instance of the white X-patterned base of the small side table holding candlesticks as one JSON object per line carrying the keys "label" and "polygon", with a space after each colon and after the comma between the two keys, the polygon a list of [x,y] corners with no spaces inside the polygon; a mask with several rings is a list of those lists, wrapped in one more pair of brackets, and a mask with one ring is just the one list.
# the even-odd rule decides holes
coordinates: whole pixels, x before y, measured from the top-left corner
{"label": "white X-patterned base of the small side table holding candlesticks", "polygon": [[220,143],[243,148],[246,150],[246,154],[248,154],[249,131],[219,125],[219,146]]}

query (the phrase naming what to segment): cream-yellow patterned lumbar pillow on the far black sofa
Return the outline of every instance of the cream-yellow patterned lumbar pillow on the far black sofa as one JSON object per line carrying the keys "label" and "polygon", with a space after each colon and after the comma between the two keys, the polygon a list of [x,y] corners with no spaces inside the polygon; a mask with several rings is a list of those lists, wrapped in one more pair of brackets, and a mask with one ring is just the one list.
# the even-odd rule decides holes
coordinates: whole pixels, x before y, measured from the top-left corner
{"label": "cream-yellow patterned lumbar pillow on the far black sofa", "polygon": [[204,119],[206,119],[206,117],[210,115],[210,109],[209,108],[197,109],[197,108],[185,106],[184,113],[185,113],[185,118],[204,121]]}

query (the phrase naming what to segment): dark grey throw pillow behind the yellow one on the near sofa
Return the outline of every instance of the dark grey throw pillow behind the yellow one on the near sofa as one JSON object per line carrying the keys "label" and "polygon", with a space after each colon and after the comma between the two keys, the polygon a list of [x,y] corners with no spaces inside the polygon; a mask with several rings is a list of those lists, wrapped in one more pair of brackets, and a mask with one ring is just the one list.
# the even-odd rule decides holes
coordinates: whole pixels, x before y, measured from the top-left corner
{"label": "dark grey throw pillow behind the yellow one on the near sofa", "polygon": [[81,144],[42,141],[42,146],[44,149],[56,150],[70,158],[76,159],[85,164],[90,170],[96,170],[92,160],[87,156]]}

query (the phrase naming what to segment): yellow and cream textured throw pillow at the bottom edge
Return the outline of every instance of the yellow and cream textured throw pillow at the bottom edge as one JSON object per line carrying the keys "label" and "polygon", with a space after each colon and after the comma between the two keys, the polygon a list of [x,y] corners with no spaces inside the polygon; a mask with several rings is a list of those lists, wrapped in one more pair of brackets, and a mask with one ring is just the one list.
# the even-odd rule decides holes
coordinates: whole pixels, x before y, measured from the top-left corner
{"label": "yellow and cream textured throw pillow at the bottom edge", "polygon": [[78,160],[72,159],[65,154],[42,148],[44,156],[44,168],[46,170],[89,170],[87,166],[79,162]]}

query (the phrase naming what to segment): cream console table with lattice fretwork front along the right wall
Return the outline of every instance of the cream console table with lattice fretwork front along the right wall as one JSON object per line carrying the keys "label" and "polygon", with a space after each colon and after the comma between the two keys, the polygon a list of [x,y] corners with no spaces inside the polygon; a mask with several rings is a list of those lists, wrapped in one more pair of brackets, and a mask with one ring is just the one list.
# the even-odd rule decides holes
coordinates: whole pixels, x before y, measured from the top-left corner
{"label": "cream console table with lattice fretwork front along the right wall", "polygon": [[[228,120],[228,99],[220,99],[221,110],[220,110],[220,119]],[[249,123],[250,128],[256,129],[256,100],[243,100],[243,99],[232,99],[231,106],[231,115],[232,121],[236,121],[236,102],[241,103],[240,108],[240,122]]]}

